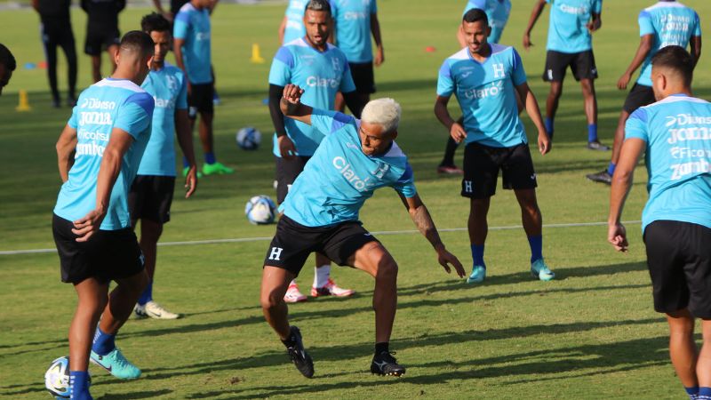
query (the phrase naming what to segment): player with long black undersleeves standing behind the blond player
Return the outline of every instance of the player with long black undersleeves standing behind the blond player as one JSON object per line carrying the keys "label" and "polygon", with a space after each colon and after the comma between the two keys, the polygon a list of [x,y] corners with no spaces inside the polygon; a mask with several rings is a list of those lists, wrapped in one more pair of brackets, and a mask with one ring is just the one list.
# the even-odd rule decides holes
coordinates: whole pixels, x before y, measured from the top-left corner
{"label": "player with long black undersleeves standing behind the blond player", "polygon": [[[284,86],[297,84],[308,87],[304,96],[316,108],[334,109],[336,92],[344,93],[348,108],[360,116],[361,97],[348,67],[346,55],[336,46],[327,43],[331,35],[331,6],[326,0],[310,0],[305,5],[302,22],[306,35],[284,45],[276,52],[269,72],[269,111],[276,130],[274,155],[276,156],[276,202],[284,202],[289,188],[303,171],[308,159],[324,140],[324,133],[293,119],[284,120],[279,106]],[[331,261],[316,253],[316,273],[311,296],[333,295],[347,297],[354,292],[340,288],[331,279]],[[285,301],[295,303],[307,300],[296,281],[289,285]]]}

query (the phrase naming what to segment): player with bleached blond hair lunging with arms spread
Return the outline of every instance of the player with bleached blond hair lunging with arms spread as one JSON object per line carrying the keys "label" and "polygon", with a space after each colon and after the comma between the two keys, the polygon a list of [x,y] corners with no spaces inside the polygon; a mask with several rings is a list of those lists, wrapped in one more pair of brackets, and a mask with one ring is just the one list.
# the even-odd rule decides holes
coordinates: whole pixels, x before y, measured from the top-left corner
{"label": "player with bleached blond hair lunging with arms spread", "polygon": [[357,120],[335,111],[311,108],[301,102],[304,91],[287,84],[281,108],[284,116],[327,134],[292,190],[279,207],[284,215],[264,260],[261,307],[267,322],[287,348],[297,369],[314,375],[296,326],[290,326],[284,293],[299,275],[311,252],[324,252],[339,265],[361,269],[375,278],[375,355],[371,372],[400,376],[405,372],[388,343],[397,307],[397,264],[379,241],[363,228],[358,212],[378,188],[391,187],[403,200],[419,231],[450,272],[465,275],[459,260],[444,248],[427,207],[419,199],[407,156],[395,143],[400,106],[392,99],[372,100]]}

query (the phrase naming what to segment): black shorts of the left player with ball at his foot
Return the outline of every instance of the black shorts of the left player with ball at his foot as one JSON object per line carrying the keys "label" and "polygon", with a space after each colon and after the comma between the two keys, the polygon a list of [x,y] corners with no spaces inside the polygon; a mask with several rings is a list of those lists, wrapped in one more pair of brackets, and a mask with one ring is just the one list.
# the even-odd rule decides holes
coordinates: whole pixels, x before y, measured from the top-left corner
{"label": "black shorts of the left player with ball at his foot", "polygon": [[100,230],[81,243],[76,242],[72,228],[72,221],[54,215],[52,232],[60,253],[62,282],[78,284],[94,277],[108,283],[143,270],[143,253],[132,228]]}

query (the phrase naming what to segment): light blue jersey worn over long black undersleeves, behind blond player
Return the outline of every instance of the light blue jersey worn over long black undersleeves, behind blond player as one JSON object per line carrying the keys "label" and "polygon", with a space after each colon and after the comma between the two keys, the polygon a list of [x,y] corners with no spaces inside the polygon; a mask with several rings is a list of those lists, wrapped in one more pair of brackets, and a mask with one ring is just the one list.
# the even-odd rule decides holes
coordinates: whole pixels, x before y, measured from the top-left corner
{"label": "light blue jersey worn over long black undersleeves, behind blond player", "polygon": [[[356,90],[346,55],[332,44],[327,44],[326,51],[319,52],[303,37],[285,44],[276,52],[269,71],[269,84],[298,84],[304,89],[302,102],[324,109],[335,108],[336,92]],[[299,156],[312,156],[324,140],[323,131],[292,118],[284,118],[284,127]],[[273,142],[274,155],[280,156],[276,134]]]}

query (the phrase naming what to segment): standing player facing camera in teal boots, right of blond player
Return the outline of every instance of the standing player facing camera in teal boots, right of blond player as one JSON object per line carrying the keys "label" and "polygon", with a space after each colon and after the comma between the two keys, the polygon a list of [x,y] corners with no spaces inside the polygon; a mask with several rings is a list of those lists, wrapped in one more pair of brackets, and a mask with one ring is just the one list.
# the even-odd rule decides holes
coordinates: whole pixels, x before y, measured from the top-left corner
{"label": "standing player facing camera in teal boots, right of blond player", "polygon": [[[542,254],[542,219],[536,201],[536,172],[523,123],[518,116],[516,95],[525,99],[526,112],[538,128],[538,147],[542,155],[550,151],[550,140],[543,126],[536,98],[526,83],[521,57],[513,47],[487,42],[491,27],[483,10],[464,14],[462,29],[467,47],[444,60],[437,82],[435,116],[457,142],[464,141],[464,179],[461,196],[469,197],[469,240],[474,266],[467,279],[479,284],[486,277],[483,260],[487,234],[486,214],[491,196],[496,193],[499,170],[503,186],[514,189],[521,206],[523,229],[531,245],[531,273],[542,281],[555,274]],[[447,110],[456,94],[464,115],[464,126],[455,122]]]}

